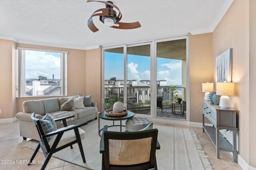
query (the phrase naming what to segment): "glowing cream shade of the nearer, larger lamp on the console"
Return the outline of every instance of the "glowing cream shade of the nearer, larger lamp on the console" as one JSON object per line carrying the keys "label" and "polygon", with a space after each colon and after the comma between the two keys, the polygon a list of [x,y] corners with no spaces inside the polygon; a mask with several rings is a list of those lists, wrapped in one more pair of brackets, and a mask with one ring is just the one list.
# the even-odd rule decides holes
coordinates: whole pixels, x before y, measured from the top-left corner
{"label": "glowing cream shade of the nearer, larger lamp on the console", "polygon": [[232,82],[217,82],[216,95],[234,96],[234,83]]}

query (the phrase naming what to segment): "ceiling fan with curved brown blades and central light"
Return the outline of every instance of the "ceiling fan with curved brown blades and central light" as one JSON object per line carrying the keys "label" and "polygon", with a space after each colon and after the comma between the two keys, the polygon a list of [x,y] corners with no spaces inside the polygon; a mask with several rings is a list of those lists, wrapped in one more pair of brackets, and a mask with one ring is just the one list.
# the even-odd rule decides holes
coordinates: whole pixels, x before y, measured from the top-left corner
{"label": "ceiling fan with curved brown blades and central light", "polygon": [[[92,21],[92,18],[94,16],[100,16],[100,21],[102,21],[104,25],[112,28],[116,28],[116,29],[135,29],[135,28],[141,27],[138,21],[131,22],[131,23],[120,22],[120,20],[122,19],[122,14],[119,8],[115,6],[111,1],[105,2],[105,1],[88,0],[87,2],[101,2],[106,4],[106,8],[102,8],[94,11],[92,16],[88,19],[87,25],[92,32],[96,32],[99,30]],[[116,10],[118,10],[119,14],[117,16],[116,16],[116,11],[113,8],[116,8]]]}

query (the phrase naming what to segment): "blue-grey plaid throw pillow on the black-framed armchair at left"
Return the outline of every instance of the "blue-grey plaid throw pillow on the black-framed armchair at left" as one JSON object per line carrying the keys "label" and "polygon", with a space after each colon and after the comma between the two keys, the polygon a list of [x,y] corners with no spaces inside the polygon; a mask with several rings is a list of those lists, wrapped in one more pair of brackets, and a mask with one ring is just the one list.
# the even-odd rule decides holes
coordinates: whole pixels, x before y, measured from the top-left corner
{"label": "blue-grey plaid throw pillow on the black-framed armchair at left", "polygon": [[[46,115],[42,119],[40,119],[39,121],[40,121],[40,124],[43,127],[44,133],[49,133],[49,132],[56,131],[57,125],[56,125],[54,119],[52,118],[52,116],[49,113],[46,113]],[[50,139],[52,137],[53,136],[47,137],[47,140],[50,141]]]}

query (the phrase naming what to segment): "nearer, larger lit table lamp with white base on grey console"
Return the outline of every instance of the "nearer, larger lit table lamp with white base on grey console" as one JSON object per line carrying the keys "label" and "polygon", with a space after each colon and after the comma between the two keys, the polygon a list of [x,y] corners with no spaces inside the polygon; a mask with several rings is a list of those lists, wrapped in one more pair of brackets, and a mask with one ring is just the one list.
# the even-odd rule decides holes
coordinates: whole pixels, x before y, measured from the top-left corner
{"label": "nearer, larger lit table lamp with white base on grey console", "polygon": [[222,95],[220,97],[220,108],[230,108],[230,98],[228,96],[234,96],[234,83],[232,82],[217,82],[216,83],[216,95]]}

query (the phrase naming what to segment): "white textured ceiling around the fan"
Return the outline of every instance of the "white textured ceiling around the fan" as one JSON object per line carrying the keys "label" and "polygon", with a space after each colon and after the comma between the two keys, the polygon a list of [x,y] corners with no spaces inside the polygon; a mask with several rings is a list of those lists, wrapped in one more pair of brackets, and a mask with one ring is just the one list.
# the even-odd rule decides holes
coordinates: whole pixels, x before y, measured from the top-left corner
{"label": "white textured ceiling around the fan", "polygon": [[[0,38],[50,43],[86,49],[116,45],[215,28],[232,0],[113,0],[122,22],[139,21],[138,29],[106,27],[94,18],[99,31],[87,27],[92,13],[104,8],[86,0],[0,0]],[[208,32],[210,32],[208,31]],[[199,31],[200,32],[200,31]]]}

